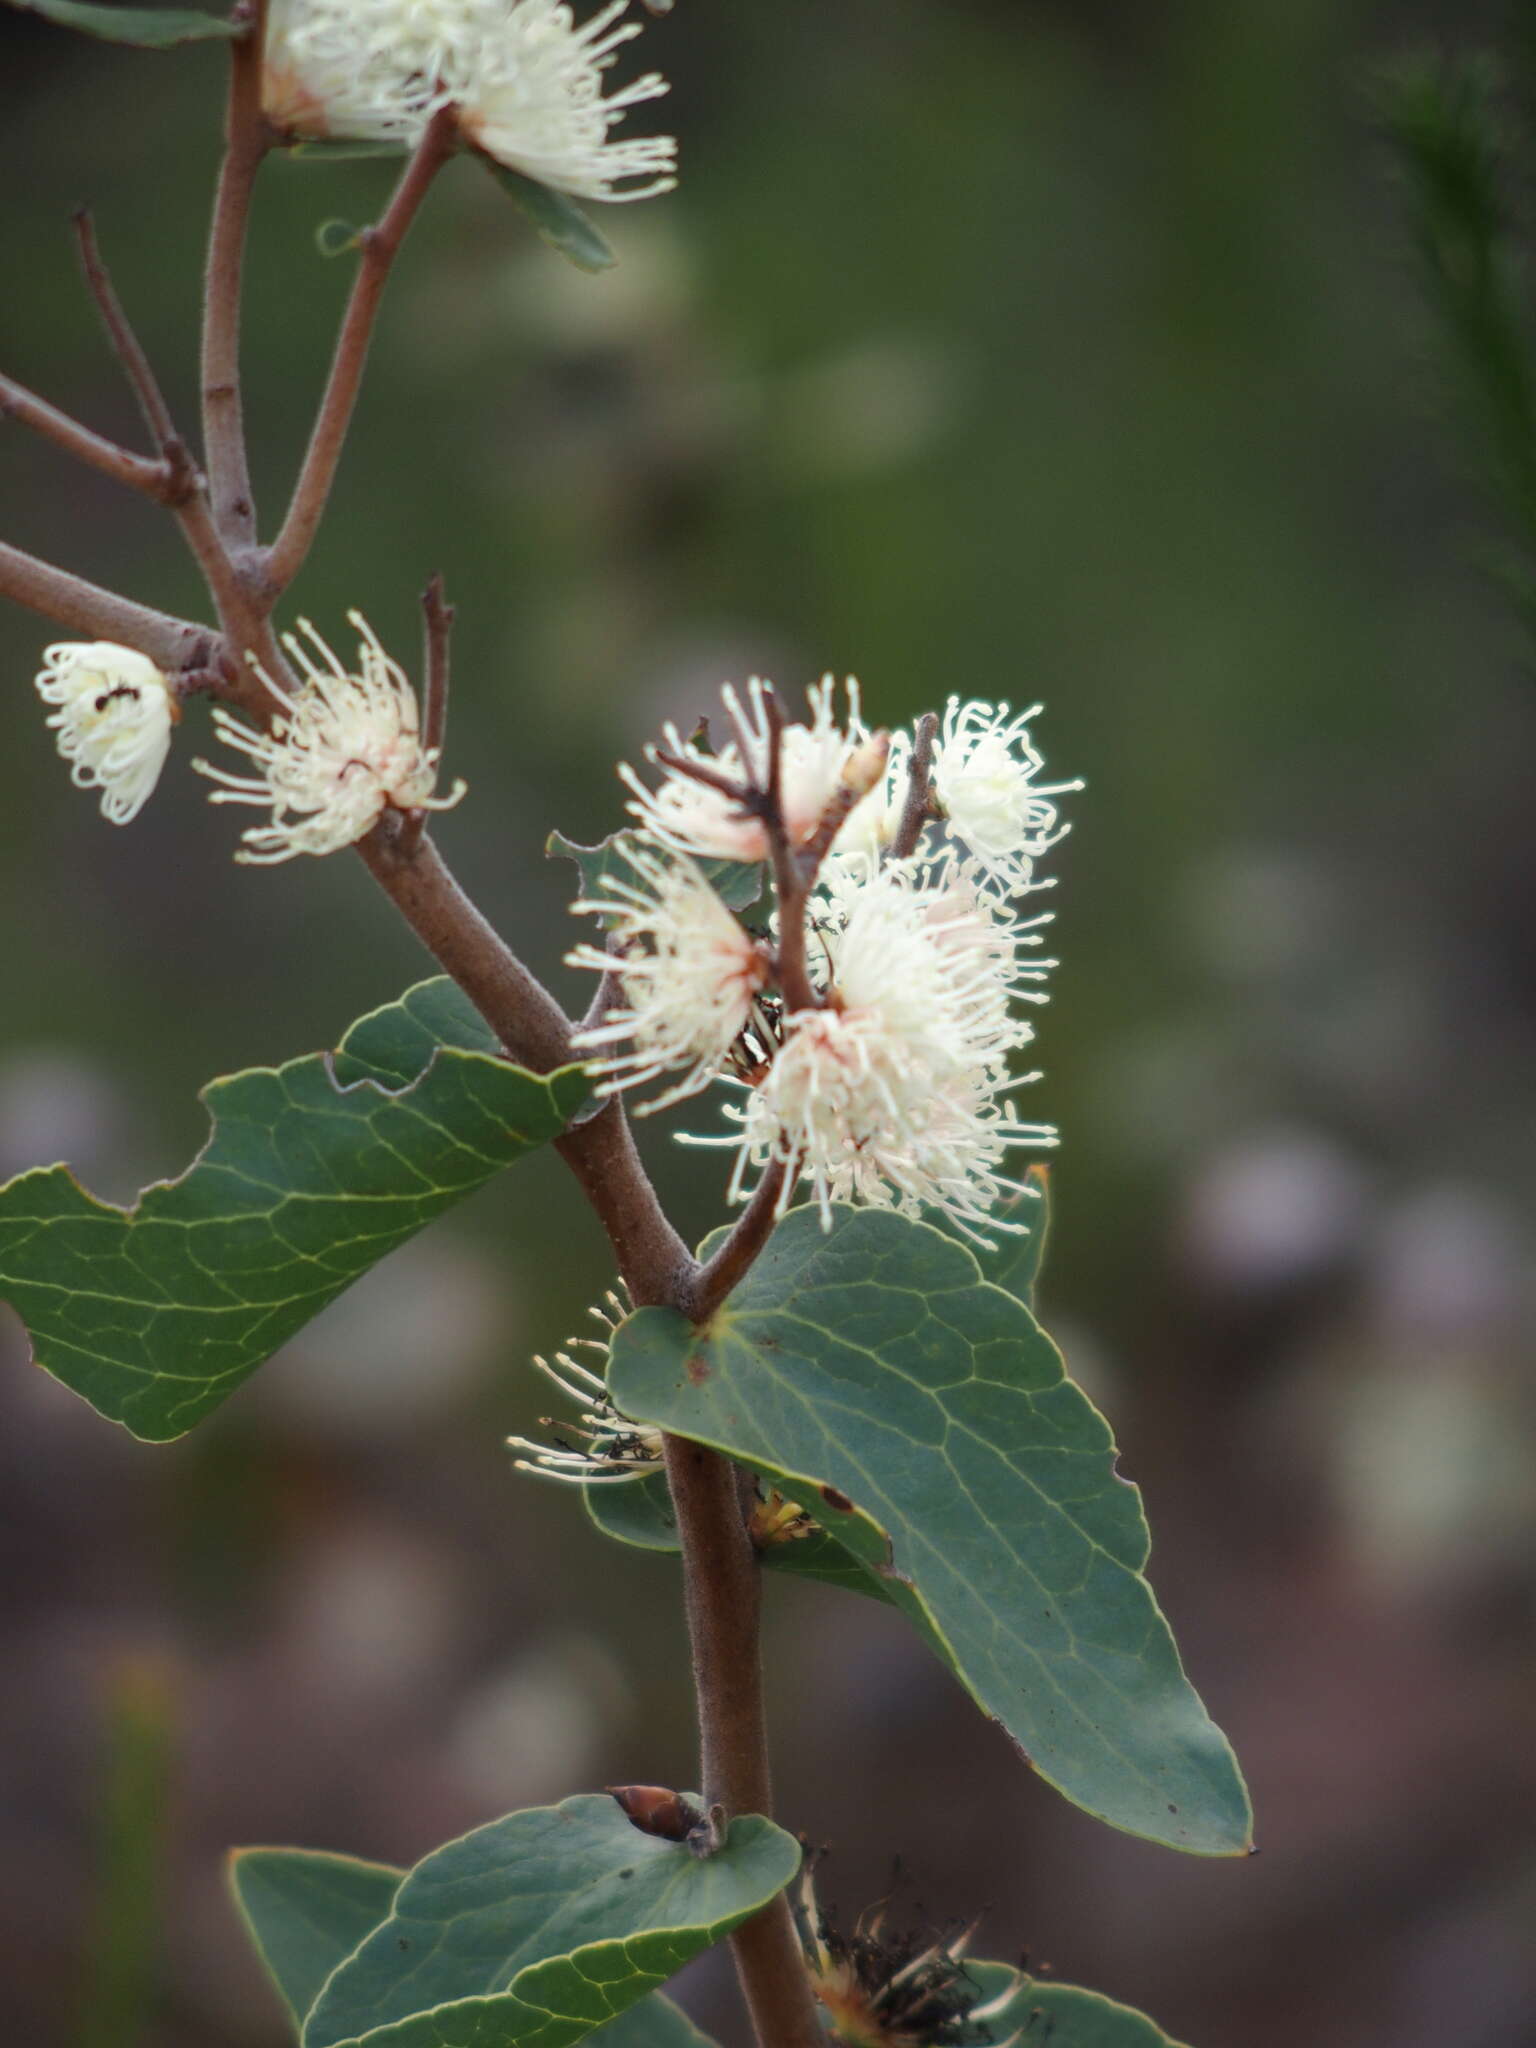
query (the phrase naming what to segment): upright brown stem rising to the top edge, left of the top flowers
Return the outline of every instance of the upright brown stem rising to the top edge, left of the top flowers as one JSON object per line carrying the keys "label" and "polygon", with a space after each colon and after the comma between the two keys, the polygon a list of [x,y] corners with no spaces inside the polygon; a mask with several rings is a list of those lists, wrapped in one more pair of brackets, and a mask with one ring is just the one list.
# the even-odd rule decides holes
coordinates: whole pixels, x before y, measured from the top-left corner
{"label": "upright brown stem rising to the top edge, left of the top flowers", "polygon": [[256,537],[240,399],[240,297],[250,195],[272,145],[262,117],[266,0],[250,0],[248,12],[250,33],[229,43],[225,154],[203,279],[203,459],[213,524],[229,547],[250,547]]}

